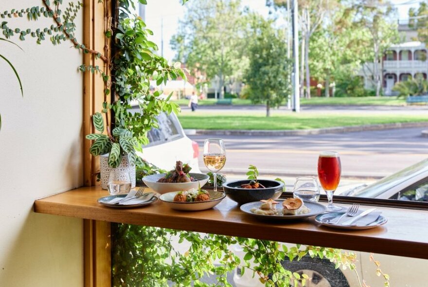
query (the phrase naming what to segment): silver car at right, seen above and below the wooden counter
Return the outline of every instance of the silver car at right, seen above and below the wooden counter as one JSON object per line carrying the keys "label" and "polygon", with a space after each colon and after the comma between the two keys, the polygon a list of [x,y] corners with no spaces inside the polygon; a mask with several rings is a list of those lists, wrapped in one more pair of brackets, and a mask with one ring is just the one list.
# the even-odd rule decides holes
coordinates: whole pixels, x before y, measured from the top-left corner
{"label": "silver car at right, seen above and below the wooden counter", "polygon": [[[339,190],[338,190],[339,191]],[[335,193],[336,195],[336,193]],[[339,191],[341,196],[349,197],[369,197],[381,199],[399,199],[412,201],[428,201],[428,159],[411,165],[391,176],[379,179],[373,184],[358,184],[351,189]],[[286,244],[286,243],[284,243]],[[286,244],[288,245],[288,244]],[[234,246],[233,251],[244,257],[245,252],[239,247]],[[373,262],[370,261],[370,254],[366,252],[356,252],[359,263],[357,271],[371,286],[383,286],[382,281],[376,276]],[[426,279],[423,276],[424,270],[428,268],[428,261],[423,259],[399,257],[392,255],[376,254],[376,260],[382,264],[382,270],[392,278],[394,286],[419,287],[425,286]],[[335,269],[334,264],[329,260],[305,256],[300,261],[283,261],[285,269],[305,273],[313,278],[306,286],[317,287],[354,287],[359,286],[356,275],[351,270]],[[417,269],[417,270],[416,270]],[[414,277],[406,277],[408,272],[421,274]],[[262,287],[257,279],[253,277],[252,272],[241,274],[240,269],[236,269],[233,274],[233,283],[236,287]]]}

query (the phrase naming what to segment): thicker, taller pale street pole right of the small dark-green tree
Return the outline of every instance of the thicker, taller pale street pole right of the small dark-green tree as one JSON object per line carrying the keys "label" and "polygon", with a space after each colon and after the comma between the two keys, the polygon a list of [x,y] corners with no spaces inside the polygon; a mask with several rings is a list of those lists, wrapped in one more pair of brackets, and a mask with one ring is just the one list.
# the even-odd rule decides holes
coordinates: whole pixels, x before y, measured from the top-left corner
{"label": "thicker, taller pale street pole right of the small dark-green tree", "polygon": [[297,20],[299,17],[297,0],[293,0],[293,58],[294,58],[294,69],[292,73],[293,77],[293,96],[292,96],[292,108],[295,112],[300,112],[300,84],[299,84],[299,29],[297,26]]}

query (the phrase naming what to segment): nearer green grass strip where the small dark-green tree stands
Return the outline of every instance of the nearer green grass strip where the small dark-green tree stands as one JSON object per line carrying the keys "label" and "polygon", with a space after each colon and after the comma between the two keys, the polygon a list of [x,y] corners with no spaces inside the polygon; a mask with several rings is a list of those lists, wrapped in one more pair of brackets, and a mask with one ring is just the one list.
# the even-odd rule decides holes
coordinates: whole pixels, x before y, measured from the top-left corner
{"label": "nearer green grass strip where the small dark-green tree stands", "polygon": [[428,122],[423,115],[360,115],[301,113],[265,117],[250,114],[180,114],[183,128],[195,129],[308,129],[333,126],[359,126],[408,122]]}

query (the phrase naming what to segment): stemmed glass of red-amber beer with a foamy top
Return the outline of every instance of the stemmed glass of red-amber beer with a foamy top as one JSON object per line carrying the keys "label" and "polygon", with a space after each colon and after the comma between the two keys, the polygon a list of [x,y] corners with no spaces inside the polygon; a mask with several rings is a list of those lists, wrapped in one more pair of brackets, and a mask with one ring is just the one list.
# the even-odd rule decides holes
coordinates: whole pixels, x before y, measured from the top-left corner
{"label": "stemmed glass of red-amber beer with a foamy top", "polygon": [[318,158],[318,178],[327,194],[327,211],[342,209],[339,206],[333,205],[333,193],[338,188],[341,169],[339,153],[334,151],[321,152]]}

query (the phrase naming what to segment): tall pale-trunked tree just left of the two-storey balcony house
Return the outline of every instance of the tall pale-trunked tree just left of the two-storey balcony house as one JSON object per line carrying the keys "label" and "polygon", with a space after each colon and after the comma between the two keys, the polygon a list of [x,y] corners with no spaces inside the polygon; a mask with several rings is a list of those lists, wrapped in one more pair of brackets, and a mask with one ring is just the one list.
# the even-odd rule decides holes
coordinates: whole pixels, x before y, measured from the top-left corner
{"label": "tall pale-trunked tree just left of the two-storey balcony house", "polygon": [[357,28],[370,35],[372,47],[373,78],[376,96],[380,96],[382,87],[382,57],[392,44],[398,41],[397,23],[392,18],[395,10],[390,2],[383,0],[359,0],[348,9],[354,15]]}

